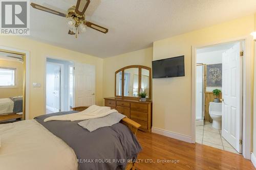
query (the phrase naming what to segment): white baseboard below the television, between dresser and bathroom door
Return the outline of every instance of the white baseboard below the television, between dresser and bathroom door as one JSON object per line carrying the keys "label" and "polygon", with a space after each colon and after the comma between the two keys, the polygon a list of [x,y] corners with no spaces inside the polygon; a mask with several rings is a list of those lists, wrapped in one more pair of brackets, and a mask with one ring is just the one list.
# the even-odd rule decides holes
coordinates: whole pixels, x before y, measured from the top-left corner
{"label": "white baseboard below the television, between dresser and bathroom door", "polygon": [[159,135],[167,136],[167,137],[170,137],[170,138],[182,140],[182,141],[189,142],[189,143],[192,142],[192,139],[191,139],[190,136],[181,135],[181,134],[178,134],[178,133],[166,131],[166,130],[159,129],[159,128],[152,127],[152,133],[157,133]]}

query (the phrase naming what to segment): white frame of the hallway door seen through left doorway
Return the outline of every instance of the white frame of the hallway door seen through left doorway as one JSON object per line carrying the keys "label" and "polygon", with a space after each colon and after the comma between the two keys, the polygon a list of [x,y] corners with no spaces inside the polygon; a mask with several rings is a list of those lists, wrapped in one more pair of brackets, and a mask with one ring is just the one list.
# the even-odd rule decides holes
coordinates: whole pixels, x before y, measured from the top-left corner
{"label": "white frame of the hallway door seen through left doorway", "polygon": [[[49,57],[47,57],[49,58]],[[46,59],[47,59],[46,58]],[[54,65],[58,65],[60,67],[60,78],[59,78],[59,109],[60,111],[63,110],[63,102],[64,102],[64,99],[63,99],[63,96],[64,96],[64,86],[62,86],[62,84],[64,84],[63,82],[63,76],[64,76],[64,65],[61,64],[61,63],[54,63],[54,62],[50,62],[50,61],[46,61],[46,66],[47,66],[47,63],[50,63],[50,64],[54,64]],[[62,78],[61,78],[62,77]],[[46,67],[46,78],[47,78],[47,67]],[[46,80],[46,83],[47,83],[47,80]],[[46,84],[47,86],[47,84]]]}

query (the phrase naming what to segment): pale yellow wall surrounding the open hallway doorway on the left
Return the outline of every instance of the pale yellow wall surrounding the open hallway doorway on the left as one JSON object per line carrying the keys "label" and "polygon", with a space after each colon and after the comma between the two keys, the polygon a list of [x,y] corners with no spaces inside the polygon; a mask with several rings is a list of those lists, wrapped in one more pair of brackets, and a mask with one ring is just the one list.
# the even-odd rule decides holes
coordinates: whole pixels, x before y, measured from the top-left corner
{"label": "pale yellow wall surrounding the open hallway doorway on the left", "polygon": [[[30,118],[45,114],[45,60],[46,57],[67,59],[96,66],[96,104],[102,105],[102,69],[103,59],[81,54],[65,48],[41,43],[31,39],[17,36],[1,36],[0,45],[18,48],[30,52]],[[32,83],[41,83],[40,88],[33,88]]]}

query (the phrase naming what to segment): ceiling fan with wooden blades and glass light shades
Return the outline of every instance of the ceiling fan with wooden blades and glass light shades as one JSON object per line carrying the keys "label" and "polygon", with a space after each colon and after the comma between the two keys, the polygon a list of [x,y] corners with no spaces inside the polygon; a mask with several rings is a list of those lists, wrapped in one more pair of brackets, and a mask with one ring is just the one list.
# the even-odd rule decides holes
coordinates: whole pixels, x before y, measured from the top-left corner
{"label": "ceiling fan with wooden blades and glass light shades", "polygon": [[78,34],[86,32],[86,27],[90,27],[104,34],[108,33],[108,29],[86,20],[84,12],[86,12],[86,9],[88,8],[89,4],[90,0],[77,0],[76,6],[72,6],[71,8],[69,8],[67,14],[49,9],[44,6],[40,6],[35,3],[31,3],[30,5],[35,9],[66,17],[67,24],[69,26],[68,34],[75,35],[76,38]]}

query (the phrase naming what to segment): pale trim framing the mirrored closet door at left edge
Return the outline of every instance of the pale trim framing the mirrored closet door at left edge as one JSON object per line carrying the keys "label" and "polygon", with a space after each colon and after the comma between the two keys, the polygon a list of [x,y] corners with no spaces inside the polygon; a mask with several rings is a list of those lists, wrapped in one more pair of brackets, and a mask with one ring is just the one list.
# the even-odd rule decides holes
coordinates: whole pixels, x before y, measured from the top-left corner
{"label": "pale trim framing the mirrored closet door at left edge", "polygon": [[3,52],[8,52],[8,53],[18,53],[18,54],[22,54],[25,56],[25,69],[24,69],[24,86],[25,88],[23,89],[23,95],[24,95],[24,102],[23,102],[23,106],[24,106],[24,110],[25,110],[25,119],[29,119],[29,104],[30,104],[30,98],[29,98],[29,94],[30,94],[30,52],[29,51],[25,51],[25,50],[19,50],[17,48],[13,48],[13,47],[7,47],[7,46],[3,46],[0,45],[0,51]]}

